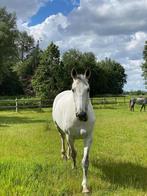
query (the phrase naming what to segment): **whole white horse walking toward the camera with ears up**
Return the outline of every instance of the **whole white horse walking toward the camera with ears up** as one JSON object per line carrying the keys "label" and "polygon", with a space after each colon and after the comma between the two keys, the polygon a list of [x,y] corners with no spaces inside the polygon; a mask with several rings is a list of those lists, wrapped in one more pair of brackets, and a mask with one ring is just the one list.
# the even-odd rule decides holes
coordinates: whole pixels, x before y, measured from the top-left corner
{"label": "whole white horse walking toward the camera with ears up", "polygon": [[[83,193],[89,192],[87,188],[87,172],[89,166],[89,150],[92,143],[95,116],[89,99],[89,84],[91,72],[89,69],[84,75],[77,75],[75,69],[71,71],[73,78],[72,89],[58,94],[53,103],[53,120],[61,136],[61,153],[63,158],[71,155],[73,168],[76,166],[75,139],[84,140],[83,167]],[[65,151],[65,137],[68,152]]]}

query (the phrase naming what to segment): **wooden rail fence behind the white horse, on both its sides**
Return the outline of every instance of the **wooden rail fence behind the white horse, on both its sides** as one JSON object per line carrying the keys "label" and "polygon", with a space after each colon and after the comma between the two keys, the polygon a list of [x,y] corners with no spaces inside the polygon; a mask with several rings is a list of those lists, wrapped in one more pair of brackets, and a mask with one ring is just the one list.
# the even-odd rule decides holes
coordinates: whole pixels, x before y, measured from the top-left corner
{"label": "wooden rail fence behind the white horse, on both its sides", "polygon": [[[91,98],[93,106],[96,105],[109,105],[109,104],[125,104],[128,102],[126,96],[109,96],[109,97],[96,97]],[[51,107],[53,99],[6,99],[0,100],[0,109],[15,109],[16,112],[22,108],[45,108]]]}

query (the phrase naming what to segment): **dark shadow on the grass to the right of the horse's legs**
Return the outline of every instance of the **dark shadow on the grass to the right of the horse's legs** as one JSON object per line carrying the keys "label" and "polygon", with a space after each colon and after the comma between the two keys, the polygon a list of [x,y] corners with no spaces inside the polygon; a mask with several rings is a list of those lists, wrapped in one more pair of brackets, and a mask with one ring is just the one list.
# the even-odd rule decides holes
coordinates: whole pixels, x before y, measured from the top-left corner
{"label": "dark shadow on the grass to the right of the horse's legs", "polygon": [[102,179],[112,185],[147,191],[147,167],[131,162],[114,162],[113,160],[92,161],[93,167],[103,173]]}

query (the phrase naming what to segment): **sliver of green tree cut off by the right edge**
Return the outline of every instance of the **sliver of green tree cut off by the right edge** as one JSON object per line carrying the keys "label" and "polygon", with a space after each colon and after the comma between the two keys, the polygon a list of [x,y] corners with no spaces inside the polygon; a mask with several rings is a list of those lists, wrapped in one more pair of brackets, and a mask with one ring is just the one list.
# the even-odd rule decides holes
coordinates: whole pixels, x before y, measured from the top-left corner
{"label": "sliver of green tree cut off by the right edge", "polygon": [[144,62],[141,65],[141,68],[143,71],[142,76],[144,77],[145,87],[147,88],[147,41],[145,41],[145,45],[144,45],[143,59],[144,59]]}

